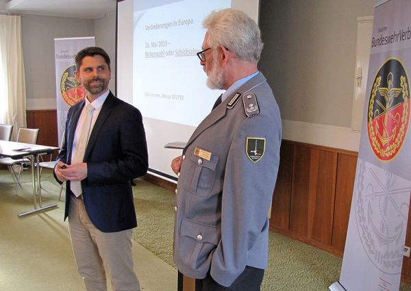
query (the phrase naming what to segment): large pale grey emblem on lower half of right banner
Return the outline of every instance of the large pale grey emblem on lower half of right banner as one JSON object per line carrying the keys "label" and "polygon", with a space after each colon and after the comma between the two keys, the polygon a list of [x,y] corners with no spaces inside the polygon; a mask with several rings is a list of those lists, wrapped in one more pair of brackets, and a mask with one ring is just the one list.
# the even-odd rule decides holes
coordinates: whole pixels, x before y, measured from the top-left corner
{"label": "large pale grey emblem on lower half of right banner", "polygon": [[366,255],[382,274],[401,273],[411,181],[359,157],[353,190]]}

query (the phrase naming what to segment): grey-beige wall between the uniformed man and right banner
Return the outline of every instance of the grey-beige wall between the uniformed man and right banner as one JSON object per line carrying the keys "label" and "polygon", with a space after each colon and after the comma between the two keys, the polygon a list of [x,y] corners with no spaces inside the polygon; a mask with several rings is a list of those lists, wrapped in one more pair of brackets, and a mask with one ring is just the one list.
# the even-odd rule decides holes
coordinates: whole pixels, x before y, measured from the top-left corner
{"label": "grey-beige wall between the uniformed man and right banner", "polygon": [[284,138],[358,151],[351,132],[358,16],[374,0],[261,0],[259,63],[283,118]]}

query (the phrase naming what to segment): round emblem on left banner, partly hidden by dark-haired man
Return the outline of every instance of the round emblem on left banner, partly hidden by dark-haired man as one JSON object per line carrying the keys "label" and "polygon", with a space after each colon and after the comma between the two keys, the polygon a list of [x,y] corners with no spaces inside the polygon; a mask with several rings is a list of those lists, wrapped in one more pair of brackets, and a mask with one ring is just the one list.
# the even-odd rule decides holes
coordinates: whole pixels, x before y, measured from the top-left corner
{"label": "round emblem on left banner, partly hidden by dark-haired man", "polygon": [[60,79],[60,92],[62,93],[62,99],[69,106],[82,101],[86,98],[86,88],[79,83],[75,77],[75,65],[69,66],[62,73]]}

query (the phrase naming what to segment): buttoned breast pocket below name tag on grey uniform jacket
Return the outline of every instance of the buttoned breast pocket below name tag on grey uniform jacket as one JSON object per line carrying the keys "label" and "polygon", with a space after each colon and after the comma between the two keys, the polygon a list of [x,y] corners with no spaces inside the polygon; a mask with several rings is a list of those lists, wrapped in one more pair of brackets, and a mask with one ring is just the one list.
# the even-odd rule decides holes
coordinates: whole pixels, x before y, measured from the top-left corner
{"label": "buttoned breast pocket below name tag on grey uniform jacket", "polygon": [[190,191],[201,197],[207,197],[216,179],[216,166],[219,162],[219,156],[212,154],[210,161],[192,155],[191,162],[195,163],[195,170],[192,175]]}

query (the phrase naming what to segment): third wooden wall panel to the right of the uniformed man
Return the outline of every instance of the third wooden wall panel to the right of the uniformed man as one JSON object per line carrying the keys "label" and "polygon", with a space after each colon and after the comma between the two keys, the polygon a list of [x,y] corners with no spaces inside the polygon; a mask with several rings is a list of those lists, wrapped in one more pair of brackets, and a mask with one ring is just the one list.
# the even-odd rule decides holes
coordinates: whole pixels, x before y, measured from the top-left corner
{"label": "third wooden wall panel to the right of the uniformed man", "polygon": [[[336,187],[336,152],[312,149],[312,176],[310,178],[309,238],[331,245]],[[315,158],[315,160],[313,160]],[[315,180],[315,181],[311,181]]]}

